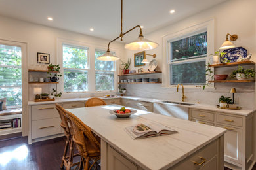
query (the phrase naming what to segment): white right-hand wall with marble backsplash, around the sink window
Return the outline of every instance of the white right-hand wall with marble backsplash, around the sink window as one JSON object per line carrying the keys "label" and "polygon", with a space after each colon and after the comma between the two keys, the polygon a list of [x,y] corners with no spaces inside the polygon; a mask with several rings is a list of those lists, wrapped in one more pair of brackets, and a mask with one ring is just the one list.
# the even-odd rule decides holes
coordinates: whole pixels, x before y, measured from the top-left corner
{"label": "white right-hand wall with marble backsplash, around the sink window", "polygon": [[[238,35],[238,40],[234,41],[236,46],[242,46],[247,49],[248,54],[253,54],[253,61],[256,61],[256,18],[255,18],[256,1],[254,0],[230,0],[211,9],[204,10],[190,16],[180,22],[171,24],[167,27],[154,31],[146,35],[146,39],[150,39],[159,44],[158,48],[146,51],[148,54],[156,54],[159,69],[163,68],[165,60],[163,60],[163,44],[162,37],[165,35],[173,34],[182,29],[197,25],[207,20],[214,18],[215,20],[215,51],[219,50],[219,46],[224,42],[226,33]],[[179,11],[176,11],[179,12]],[[131,58],[131,69],[139,69],[140,67],[133,67],[133,54],[136,52],[126,50],[126,58]],[[146,56],[150,61],[152,56]],[[127,60],[127,59],[126,59]],[[148,64],[143,67],[144,70],[148,69]],[[230,72],[236,67],[230,67],[227,71]],[[219,69],[217,73],[224,73],[226,69]],[[165,73],[163,73],[165,74]],[[148,76],[148,75],[147,75]],[[160,76],[161,78],[161,76]],[[140,95],[144,97],[153,97],[160,99],[181,100],[181,91],[176,92],[176,88],[163,88],[161,84],[127,84],[127,95]],[[235,94],[235,101],[244,109],[253,109],[255,103],[255,85],[254,83],[242,84],[215,84],[215,89],[202,90],[202,88],[185,88],[186,101],[207,103],[217,105],[217,100],[221,95],[226,97],[232,96],[230,88],[236,87],[238,93]]]}

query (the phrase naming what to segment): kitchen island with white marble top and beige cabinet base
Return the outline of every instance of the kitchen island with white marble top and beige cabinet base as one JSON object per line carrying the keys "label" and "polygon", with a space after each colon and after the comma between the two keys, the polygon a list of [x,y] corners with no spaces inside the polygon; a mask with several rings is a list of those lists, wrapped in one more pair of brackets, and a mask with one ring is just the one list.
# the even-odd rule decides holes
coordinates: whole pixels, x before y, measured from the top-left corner
{"label": "kitchen island with white marble top and beige cabinet base", "polygon": [[[68,109],[101,138],[101,169],[223,169],[225,129],[137,110],[130,118],[110,114],[120,105]],[[125,127],[159,122],[178,131],[133,140]]]}

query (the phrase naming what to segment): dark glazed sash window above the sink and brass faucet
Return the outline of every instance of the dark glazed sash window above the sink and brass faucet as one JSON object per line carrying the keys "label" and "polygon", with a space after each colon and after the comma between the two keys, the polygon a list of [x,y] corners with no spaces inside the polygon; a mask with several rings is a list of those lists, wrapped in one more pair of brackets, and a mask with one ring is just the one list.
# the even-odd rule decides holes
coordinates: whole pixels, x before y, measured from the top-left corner
{"label": "dark glazed sash window above the sink and brass faucet", "polygon": [[170,84],[205,84],[207,32],[169,41]]}

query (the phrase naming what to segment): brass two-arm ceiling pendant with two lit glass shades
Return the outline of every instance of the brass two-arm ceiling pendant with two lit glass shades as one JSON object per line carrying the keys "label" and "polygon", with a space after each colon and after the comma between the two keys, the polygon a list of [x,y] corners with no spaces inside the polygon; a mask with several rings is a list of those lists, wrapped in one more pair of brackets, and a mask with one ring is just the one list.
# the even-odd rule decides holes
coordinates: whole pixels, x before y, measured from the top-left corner
{"label": "brass two-arm ceiling pendant with two lit glass shades", "polygon": [[116,41],[119,38],[121,39],[121,41],[123,41],[123,36],[125,34],[129,33],[130,31],[133,31],[133,29],[135,29],[137,27],[140,29],[139,37],[137,40],[135,40],[129,44],[126,44],[125,45],[126,49],[128,49],[128,50],[152,50],[152,49],[158,47],[158,44],[156,42],[153,42],[153,41],[150,41],[150,40],[144,38],[140,25],[137,25],[137,26],[129,29],[125,33],[123,33],[123,0],[121,0],[121,33],[120,33],[119,37],[116,37],[116,39],[113,39],[112,41],[110,41],[108,43],[108,50],[106,51],[106,53],[104,53],[102,56],[99,56],[97,59],[101,60],[101,61],[117,61],[119,58],[110,53],[110,43],[113,41]]}

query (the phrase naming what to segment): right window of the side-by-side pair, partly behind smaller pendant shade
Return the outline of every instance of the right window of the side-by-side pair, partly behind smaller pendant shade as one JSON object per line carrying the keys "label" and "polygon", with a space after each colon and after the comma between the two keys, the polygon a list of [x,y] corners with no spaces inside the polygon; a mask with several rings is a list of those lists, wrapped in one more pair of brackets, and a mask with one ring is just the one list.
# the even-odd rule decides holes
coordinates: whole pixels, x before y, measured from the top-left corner
{"label": "right window of the side-by-side pair, partly behind smaller pendant shade", "polygon": [[96,91],[114,90],[114,61],[99,61],[96,59],[104,53],[102,50],[95,50]]}

